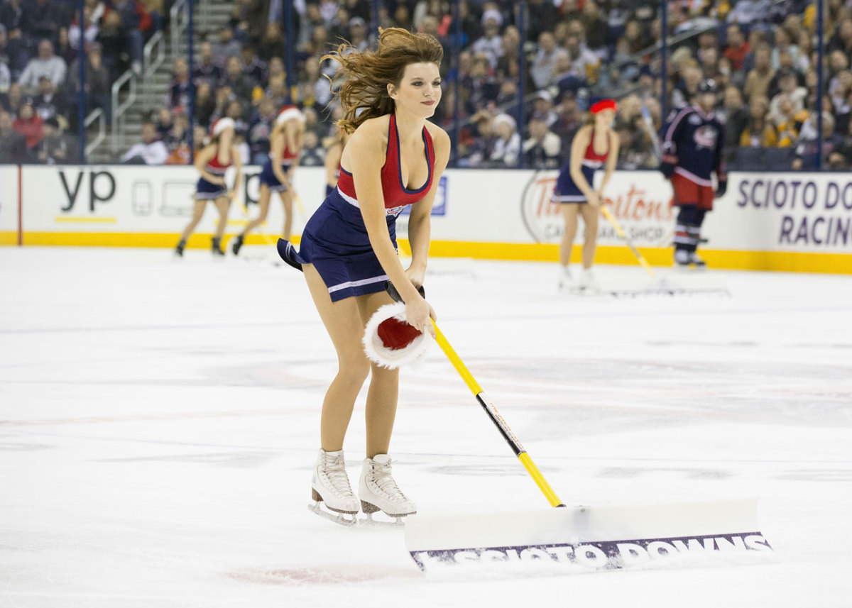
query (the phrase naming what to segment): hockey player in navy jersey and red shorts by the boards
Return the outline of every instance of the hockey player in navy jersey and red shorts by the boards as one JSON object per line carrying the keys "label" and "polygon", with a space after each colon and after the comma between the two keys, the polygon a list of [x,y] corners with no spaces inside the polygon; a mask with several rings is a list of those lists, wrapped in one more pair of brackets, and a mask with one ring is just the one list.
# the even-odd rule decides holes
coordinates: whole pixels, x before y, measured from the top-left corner
{"label": "hockey player in navy jersey and red shorts by the boards", "polygon": [[[713,209],[713,198],[721,197],[728,187],[722,170],[722,123],[714,116],[717,102],[716,83],[704,80],[691,106],[673,112],[664,128],[663,158],[659,169],[671,180],[675,192],[671,204],[679,208],[675,228],[675,264],[678,267],[704,268],[696,253],[701,224]],[[713,192],[711,172],[716,172],[717,190]]]}

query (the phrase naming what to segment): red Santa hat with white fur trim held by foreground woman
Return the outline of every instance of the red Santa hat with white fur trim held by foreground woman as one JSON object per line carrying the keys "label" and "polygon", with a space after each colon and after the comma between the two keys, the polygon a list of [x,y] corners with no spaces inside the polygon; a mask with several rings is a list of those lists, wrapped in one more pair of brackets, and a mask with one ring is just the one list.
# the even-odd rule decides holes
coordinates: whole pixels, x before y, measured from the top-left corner
{"label": "red Santa hat with white fur trim held by foreground woman", "polygon": [[363,342],[364,352],[371,361],[394,370],[422,359],[433,339],[428,332],[408,324],[406,305],[394,302],[373,313],[367,321]]}

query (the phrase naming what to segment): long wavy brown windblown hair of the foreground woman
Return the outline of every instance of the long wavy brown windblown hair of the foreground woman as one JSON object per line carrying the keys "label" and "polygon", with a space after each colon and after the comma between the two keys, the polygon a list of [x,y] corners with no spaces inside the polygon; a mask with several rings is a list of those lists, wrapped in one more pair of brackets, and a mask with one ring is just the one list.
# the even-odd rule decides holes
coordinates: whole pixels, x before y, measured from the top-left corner
{"label": "long wavy brown windblown hair of the foreground woman", "polygon": [[343,107],[343,118],[337,126],[353,133],[361,123],[394,112],[394,100],[388,95],[388,84],[400,85],[406,66],[412,63],[434,63],[440,66],[444,49],[434,36],[412,33],[400,27],[379,30],[378,49],[355,51],[348,43],[326,54],[323,60],[340,63],[332,82]]}

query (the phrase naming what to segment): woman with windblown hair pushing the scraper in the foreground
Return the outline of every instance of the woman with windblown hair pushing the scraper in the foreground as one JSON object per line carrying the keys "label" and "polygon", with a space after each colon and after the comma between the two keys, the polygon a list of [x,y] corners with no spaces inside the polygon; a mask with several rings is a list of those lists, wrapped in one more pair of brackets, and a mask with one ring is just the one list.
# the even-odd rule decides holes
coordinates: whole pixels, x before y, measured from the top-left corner
{"label": "woman with windblown hair pushing the scraper in the foreground", "polygon": [[[338,513],[381,510],[415,513],[391,476],[388,456],[394,429],[398,370],[371,364],[361,339],[377,308],[391,300],[390,279],[417,330],[434,330],[435,312],[417,293],[429,252],[429,214],[450,156],[450,138],[429,123],[440,102],[443,49],[435,37],[400,28],[382,30],[375,52],[341,45],[338,126],[352,136],[343,149],[337,187],[308,221],[296,261],[337,350],[337,376],[322,407],[320,450],[311,482],[314,500]],[[396,252],[396,217],[411,209],[412,262]],[[355,398],[370,377],[366,401],[366,459],[358,497],[349,486],[343,438]],[[360,501],[360,502],[359,502]]]}

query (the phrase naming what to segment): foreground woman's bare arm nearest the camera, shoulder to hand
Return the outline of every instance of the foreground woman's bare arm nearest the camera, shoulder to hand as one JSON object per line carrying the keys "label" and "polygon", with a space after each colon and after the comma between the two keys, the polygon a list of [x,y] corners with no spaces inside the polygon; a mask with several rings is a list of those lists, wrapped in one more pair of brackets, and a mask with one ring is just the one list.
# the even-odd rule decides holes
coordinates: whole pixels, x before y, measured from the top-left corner
{"label": "foreground woman's bare arm nearest the camera, shoulder to hand", "polygon": [[358,193],[358,204],[373,253],[399,291],[402,300],[406,302],[408,323],[415,329],[429,331],[434,336],[429,316],[434,317],[435,312],[406,277],[406,271],[400,264],[400,258],[388,232],[381,177],[387,148],[387,129],[386,117],[361,124],[349,140],[347,164],[352,168],[355,192]]}

